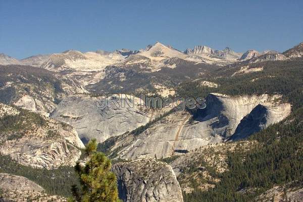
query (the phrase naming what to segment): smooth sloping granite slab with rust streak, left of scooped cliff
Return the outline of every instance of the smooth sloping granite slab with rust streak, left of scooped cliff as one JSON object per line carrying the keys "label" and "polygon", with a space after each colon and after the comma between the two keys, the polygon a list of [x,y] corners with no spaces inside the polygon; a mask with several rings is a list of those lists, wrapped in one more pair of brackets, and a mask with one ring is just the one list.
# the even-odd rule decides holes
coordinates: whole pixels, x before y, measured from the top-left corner
{"label": "smooth sloping granite slab with rust streak, left of scooped cliff", "polygon": [[[182,128],[189,119],[189,113],[173,113],[137,136],[129,135],[119,139],[114,148],[122,148],[118,152],[118,156],[127,160],[137,158],[161,159],[172,156],[175,153],[176,143],[183,141],[179,137]],[[198,140],[195,141],[195,145],[199,143]]]}

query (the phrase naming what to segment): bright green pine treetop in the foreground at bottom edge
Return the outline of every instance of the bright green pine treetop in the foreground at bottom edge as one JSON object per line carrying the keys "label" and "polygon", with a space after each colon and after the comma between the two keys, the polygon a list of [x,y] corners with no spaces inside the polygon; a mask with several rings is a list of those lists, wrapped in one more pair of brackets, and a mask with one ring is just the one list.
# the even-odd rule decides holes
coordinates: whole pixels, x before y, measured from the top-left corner
{"label": "bright green pine treetop in the foreground at bottom edge", "polygon": [[73,198],[69,202],[116,202],[118,198],[117,179],[111,172],[111,162],[103,154],[96,151],[96,140],[90,140],[85,148],[89,160],[85,166],[78,162],[75,171],[78,174],[81,188],[71,188]]}

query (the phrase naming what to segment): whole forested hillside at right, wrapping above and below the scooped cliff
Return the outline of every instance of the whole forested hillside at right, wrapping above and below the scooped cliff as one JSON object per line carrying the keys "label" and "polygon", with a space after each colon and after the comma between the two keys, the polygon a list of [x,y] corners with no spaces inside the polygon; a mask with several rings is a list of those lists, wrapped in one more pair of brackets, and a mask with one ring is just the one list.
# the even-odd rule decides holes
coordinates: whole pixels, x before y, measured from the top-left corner
{"label": "whole forested hillside at right, wrapping above and below the scooped cliff", "polygon": [[209,80],[218,83],[218,88],[196,87],[195,82],[179,88],[183,96],[206,96],[214,91],[231,95],[281,93],[292,104],[292,114],[285,121],[249,137],[261,143],[257,149],[228,155],[228,171],[215,188],[184,193],[184,201],[250,201],[274,185],[293,186],[303,180],[303,61],[254,64],[257,66],[263,66],[264,71],[231,76],[235,67],[217,72],[225,76]]}

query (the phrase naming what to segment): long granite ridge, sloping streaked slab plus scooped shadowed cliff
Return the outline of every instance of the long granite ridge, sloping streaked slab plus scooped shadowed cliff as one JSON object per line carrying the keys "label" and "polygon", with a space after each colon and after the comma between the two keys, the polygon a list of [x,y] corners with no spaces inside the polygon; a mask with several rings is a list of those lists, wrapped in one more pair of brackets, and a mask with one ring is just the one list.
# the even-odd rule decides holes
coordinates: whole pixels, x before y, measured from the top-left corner
{"label": "long granite ridge, sloping streaked slab plus scooped shadowed cliff", "polygon": [[167,158],[200,146],[246,138],[286,118],[291,111],[280,95],[228,96],[213,93],[207,108],[192,119],[187,112],[175,112],[138,135],[125,135],[115,142],[119,158]]}

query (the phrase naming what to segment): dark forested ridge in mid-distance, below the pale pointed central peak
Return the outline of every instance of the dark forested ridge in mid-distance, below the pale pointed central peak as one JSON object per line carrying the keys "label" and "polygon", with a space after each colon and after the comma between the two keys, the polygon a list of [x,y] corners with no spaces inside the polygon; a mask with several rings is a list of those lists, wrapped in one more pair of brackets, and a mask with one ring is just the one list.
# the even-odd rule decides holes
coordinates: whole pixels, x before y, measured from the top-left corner
{"label": "dark forested ridge in mid-distance, below the pale pointed central peak", "polygon": [[[153,83],[175,88],[182,81],[195,78],[198,74],[209,75],[210,72],[220,69],[216,65],[195,64],[194,62],[182,59],[171,59],[171,64],[176,64],[176,68],[163,67],[160,71],[144,72],[141,64],[126,65],[125,67],[109,66],[105,69],[107,77],[103,80],[87,86],[92,92],[103,93],[135,93],[134,89],[142,89],[144,92],[154,92]],[[167,62],[167,65],[170,61]],[[124,74],[125,80],[117,79]]]}

